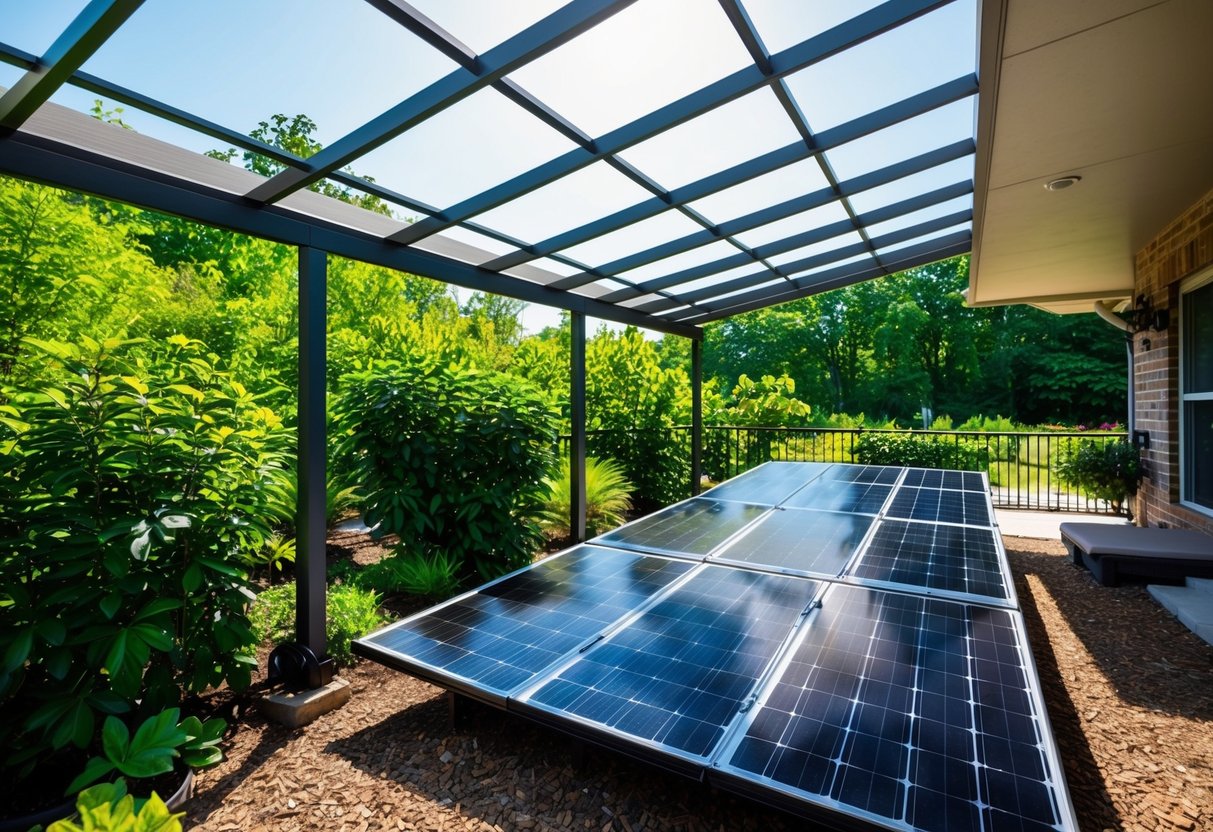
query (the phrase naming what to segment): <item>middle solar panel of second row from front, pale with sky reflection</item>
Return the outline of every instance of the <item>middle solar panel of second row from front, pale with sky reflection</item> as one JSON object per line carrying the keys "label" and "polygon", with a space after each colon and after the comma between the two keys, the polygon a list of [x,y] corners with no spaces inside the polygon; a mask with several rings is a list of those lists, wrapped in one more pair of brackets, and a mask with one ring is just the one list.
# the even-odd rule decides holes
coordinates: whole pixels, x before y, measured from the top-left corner
{"label": "middle solar panel of second row from front, pale with sky reflection", "polygon": [[873,519],[864,514],[798,508],[774,511],[712,559],[836,577]]}

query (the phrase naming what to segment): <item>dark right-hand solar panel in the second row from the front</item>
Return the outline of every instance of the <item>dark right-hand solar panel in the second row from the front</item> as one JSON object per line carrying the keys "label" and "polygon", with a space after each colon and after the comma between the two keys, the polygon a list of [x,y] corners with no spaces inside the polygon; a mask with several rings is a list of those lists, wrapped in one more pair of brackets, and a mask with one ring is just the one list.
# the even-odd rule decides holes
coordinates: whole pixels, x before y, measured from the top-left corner
{"label": "dark right-hand solar panel in the second row from the front", "polygon": [[882,520],[848,575],[1014,604],[991,529]]}

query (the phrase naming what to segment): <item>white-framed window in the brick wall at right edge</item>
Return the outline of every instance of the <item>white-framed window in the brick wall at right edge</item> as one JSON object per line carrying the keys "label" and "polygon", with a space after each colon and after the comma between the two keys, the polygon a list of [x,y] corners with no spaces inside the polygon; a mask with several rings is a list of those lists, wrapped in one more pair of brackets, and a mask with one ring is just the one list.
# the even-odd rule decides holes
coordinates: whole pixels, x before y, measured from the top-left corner
{"label": "white-framed window in the brick wall at right edge", "polygon": [[1183,286],[1180,314],[1181,498],[1213,509],[1213,270]]}

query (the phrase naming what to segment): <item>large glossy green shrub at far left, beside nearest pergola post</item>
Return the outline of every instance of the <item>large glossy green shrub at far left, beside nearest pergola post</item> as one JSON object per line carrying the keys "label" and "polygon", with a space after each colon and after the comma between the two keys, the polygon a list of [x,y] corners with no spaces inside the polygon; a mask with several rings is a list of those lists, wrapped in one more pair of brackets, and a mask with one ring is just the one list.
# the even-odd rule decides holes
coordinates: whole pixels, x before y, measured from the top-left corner
{"label": "large glossy green shrub at far left, beside nearest pergola post", "polygon": [[29,344],[59,371],[0,423],[0,791],[104,714],[247,685],[239,557],[287,444],[198,342]]}

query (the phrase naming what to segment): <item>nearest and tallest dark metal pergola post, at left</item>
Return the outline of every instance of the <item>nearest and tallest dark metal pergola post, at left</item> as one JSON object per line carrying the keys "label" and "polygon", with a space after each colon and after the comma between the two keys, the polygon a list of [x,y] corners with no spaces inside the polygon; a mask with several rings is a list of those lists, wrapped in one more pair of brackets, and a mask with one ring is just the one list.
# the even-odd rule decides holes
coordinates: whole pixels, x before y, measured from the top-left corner
{"label": "nearest and tallest dark metal pergola post, at left", "polygon": [[325,654],[325,323],[328,261],[300,247],[298,534],[295,626],[298,643]]}

